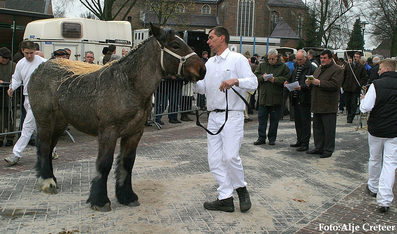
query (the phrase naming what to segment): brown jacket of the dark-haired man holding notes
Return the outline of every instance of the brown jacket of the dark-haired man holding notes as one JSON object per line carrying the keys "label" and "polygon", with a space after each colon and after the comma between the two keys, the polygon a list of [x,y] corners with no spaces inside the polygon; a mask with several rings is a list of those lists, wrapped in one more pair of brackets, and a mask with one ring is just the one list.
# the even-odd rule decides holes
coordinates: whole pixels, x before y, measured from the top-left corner
{"label": "brown jacket of the dark-haired man holding notes", "polygon": [[315,114],[336,113],[338,111],[339,91],[343,82],[343,70],[331,63],[319,66],[313,73],[320,85],[311,84],[312,112]]}

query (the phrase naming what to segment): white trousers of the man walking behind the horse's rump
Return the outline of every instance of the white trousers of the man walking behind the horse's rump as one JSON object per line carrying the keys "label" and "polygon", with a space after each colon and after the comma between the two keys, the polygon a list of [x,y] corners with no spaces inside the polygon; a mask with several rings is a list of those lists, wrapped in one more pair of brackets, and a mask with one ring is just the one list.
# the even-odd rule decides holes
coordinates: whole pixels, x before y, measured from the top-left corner
{"label": "white trousers of the man walking behind the horse's rump", "polygon": [[36,120],[34,119],[32,109],[30,108],[29,97],[25,96],[25,103],[23,104],[26,110],[26,117],[23,121],[21,137],[14,145],[12,152],[16,157],[22,158],[22,152],[29,143],[30,136],[36,130]]}

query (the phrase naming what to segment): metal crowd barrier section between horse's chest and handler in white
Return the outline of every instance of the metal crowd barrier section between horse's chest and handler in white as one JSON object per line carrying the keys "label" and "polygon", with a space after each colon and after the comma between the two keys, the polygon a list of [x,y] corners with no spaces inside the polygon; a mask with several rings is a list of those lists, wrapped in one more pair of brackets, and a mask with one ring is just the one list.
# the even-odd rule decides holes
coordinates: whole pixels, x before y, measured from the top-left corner
{"label": "metal crowd barrier section between horse's chest and handler in white", "polygon": [[[189,113],[196,111],[199,107],[199,94],[193,92],[192,83],[184,85],[182,80],[162,80],[160,86],[153,95],[153,109],[151,114],[148,114],[148,122],[154,123],[158,129],[161,125],[157,122],[168,121],[169,115],[171,118],[181,119],[182,113]],[[204,105],[205,106],[205,105]],[[163,117],[163,118],[162,118]]]}

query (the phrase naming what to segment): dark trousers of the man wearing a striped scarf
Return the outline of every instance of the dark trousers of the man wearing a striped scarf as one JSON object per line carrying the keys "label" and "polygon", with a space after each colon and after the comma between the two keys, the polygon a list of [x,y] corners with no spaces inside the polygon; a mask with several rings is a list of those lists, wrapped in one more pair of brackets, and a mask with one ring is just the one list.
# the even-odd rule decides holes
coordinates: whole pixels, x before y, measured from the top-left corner
{"label": "dark trousers of the man wearing a striped scarf", "polygon": [[302,146],[308,147],[312,127],[310,104],[298,104],[296,100],[293,106],[295,113],[296,141],[301,142]]}

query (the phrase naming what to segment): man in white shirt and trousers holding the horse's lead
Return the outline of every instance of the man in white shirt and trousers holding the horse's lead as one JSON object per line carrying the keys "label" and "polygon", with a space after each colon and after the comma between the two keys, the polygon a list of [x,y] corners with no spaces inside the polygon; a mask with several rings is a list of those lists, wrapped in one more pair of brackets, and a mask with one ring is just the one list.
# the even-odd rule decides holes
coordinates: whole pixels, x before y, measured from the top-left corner
{"label": "man in white shirt and trousers holding the horse's lead", "polygon": [[[229,38],[229,32],[225,27],[217,26],[209,31],[207,44],[216,56],[209,58],[205,63],[205,77],[194,84],[193,88],[200,94],[206,94],[207,110],[210,112],[208,130],[216,132],[225,123],[219,134],[207,134],[208,165],[219,184],[219,196],[213,202],[204,202],[204,208],[233,212],[232,195],[236,189],[240,210],[244,212],[251,208],[239,156],[244,136],[245,103],[230,88],[235,86],[236,91],[244,97],[246,91],[254,92],[257,89],[258,79],[252,72],[247,58],[228,49]],[[225,122],[226,105],[229,112]]]}

